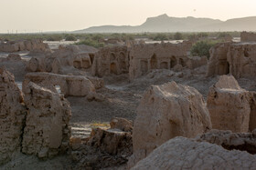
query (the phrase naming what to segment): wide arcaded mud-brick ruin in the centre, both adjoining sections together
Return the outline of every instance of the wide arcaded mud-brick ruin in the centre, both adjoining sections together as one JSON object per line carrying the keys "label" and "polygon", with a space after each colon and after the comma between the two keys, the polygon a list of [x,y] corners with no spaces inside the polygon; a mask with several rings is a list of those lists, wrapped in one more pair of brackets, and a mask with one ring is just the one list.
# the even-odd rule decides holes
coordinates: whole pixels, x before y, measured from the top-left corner
{"label": "wide arcaded mud-brick ruin in the centre, both adjoining sections together", "polygon": [[187,66],[187,51],[191,43],[140,44],[127,47],[102,48],[95,54],[92,75],[121,75],[129,73],[130,80],[153,69],[172,69]]}

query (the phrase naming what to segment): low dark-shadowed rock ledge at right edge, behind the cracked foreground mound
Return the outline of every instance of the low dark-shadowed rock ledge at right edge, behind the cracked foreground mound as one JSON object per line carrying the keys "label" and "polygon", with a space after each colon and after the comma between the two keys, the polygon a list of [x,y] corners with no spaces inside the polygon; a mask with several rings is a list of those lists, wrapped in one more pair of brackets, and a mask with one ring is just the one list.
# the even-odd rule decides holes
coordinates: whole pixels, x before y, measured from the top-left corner
{"label": "low dark-shadowed rock ledge at right edge, behind the cracked foreground mound", "polygon": [[198,135],[196,140],[197,142],[221,145],[227,150],[240,150],[252,155],[256,154],[256,135],[253,133],[232,133],[231,131],[211,130],[204,135]]}

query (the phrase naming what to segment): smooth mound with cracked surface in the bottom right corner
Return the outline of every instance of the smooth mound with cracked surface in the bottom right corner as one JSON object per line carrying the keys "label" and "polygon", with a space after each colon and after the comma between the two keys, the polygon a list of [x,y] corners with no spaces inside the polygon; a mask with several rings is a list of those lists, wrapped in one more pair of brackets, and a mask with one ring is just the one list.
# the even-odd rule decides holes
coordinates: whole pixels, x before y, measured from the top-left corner
{"label": "smooth mound with cracked surface in the bottom right corner", "polygon": [[132,170],[255,169],[255,167],[255,155],[176,137],[156,148]]}

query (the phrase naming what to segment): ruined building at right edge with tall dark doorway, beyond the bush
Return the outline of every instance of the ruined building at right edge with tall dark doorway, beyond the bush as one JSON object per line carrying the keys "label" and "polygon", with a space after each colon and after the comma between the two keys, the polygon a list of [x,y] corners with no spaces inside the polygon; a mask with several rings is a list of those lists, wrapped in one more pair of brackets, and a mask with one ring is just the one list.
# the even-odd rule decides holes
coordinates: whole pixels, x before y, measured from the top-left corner
{"label": "ruined building at right edge with tall dark doorway, beyond the bush", "polygon": [[220,43],[210,49],[209,75],[256,77],[256,42]]}

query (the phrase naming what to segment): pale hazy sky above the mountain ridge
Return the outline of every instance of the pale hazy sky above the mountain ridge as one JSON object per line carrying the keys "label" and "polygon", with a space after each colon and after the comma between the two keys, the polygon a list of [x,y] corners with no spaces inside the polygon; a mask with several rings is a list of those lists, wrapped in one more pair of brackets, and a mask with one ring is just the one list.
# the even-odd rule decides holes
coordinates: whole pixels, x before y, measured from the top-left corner
{"label": "pale hazy sky above the mountain ridge", "polygon": [[0,33],[141,25],[162,14],[227,20],[256,15],[255,9],[255,0],[0,0]]}

